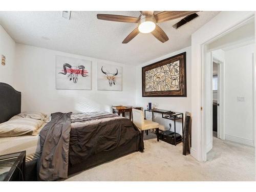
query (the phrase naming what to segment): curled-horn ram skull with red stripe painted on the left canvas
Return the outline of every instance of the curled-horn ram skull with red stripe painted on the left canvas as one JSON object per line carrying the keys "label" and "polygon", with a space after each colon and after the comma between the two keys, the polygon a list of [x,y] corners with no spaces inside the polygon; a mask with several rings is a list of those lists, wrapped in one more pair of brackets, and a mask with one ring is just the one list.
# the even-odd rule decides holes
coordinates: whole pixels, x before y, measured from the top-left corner
{"label": "curled-horn ram skull with red stripe painted on the left canvas", "polygon": [[88,76],[88,71],[85,70],[84,66],[71,66],[69,63],[65,63],[63,64],[63,71],[63,73],[60,72],[59,74],[67,75],[68,73],[69,80],[73,80],[74,83],[77,83],[79,74],[81,74],[82,77]]}

